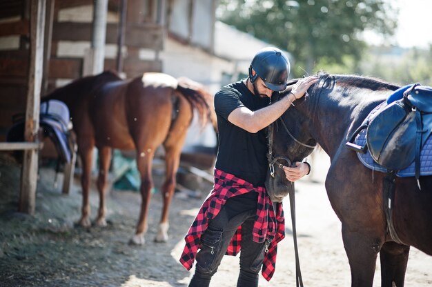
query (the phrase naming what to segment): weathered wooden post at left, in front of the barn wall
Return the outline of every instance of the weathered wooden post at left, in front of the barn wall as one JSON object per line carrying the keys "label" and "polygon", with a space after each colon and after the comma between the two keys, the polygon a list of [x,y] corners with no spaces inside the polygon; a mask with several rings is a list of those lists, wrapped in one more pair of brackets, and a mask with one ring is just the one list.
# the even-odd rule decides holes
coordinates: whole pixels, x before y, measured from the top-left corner
{"label": "weathered wooden post at left, in front of the barn wall", "polygon": [[[30,68],[28,71],[28,94],[26,107],[26,129],[24,138],[37,142],[39,130],[39,103],[43,75],[43,31],[45,26],[46,0],[32,0],[30,6]],[[37,186],[37,161],[39,150],[25,150],[21,172],[21,194],[19,211],[35,212]]]}

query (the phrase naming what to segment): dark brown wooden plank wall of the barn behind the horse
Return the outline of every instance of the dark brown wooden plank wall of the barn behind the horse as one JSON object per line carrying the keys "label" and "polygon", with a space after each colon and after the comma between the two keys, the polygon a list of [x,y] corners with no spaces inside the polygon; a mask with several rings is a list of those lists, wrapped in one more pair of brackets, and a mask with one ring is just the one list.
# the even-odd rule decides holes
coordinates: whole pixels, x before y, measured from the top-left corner
{"label": "dark brown wooden plank wall of the barn behind the horse", "polygon": [[[148,5],[154,5],[153,2],[157,3],[157,1],[149,0]],[[78,58],[57,57],[59,41],[90,41],[92,32],[91,23],[57,21],[59,10],[91,5],[92,3],[92,0],[55,1],[51,53],[47,71],[48,90],[55,88],[56,79],[77,79],[83,75],[84,55]],[[128,0],[128,8],[130,8],[128,14],[136,12],[137,5],[143,5],[142,3],[141,0]],[[117,12],[119,1],[110,0],[108,8]],[[17,50],[1,50],[0,47],[0,141],[6,141],[6,132],[12,126],[12,116],[26,111],[29,70],[28,48],[30,44],[28,41],[30,34],[29,14],[30,0],[0,1],[0,19],[17,19],[0,23],[0,37],[16,36],[20,38]],[[160,72],[162,69],[162,63],[159,59],[149,61],[137,59],[136,51],[139,48],[162,50],[163,26],[151,21],[138,20],[137,17],[129,16],[126,19],[125,46],[128,49],[129,57],[124,59],[123,72],[128,78],[137,77],[146,71]],[[117,43],[117,23],[108,23],[106,43]],[[115,59],[106,59],[105,68],[116,70]],[[47,80],[44,79],[44,81]]]}

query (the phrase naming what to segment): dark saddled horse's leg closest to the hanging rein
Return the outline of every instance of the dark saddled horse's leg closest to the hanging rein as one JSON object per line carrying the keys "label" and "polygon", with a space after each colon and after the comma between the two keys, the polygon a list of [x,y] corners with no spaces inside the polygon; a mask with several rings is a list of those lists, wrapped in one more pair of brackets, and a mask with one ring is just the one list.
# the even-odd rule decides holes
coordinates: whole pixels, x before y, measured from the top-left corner
{"label": "dark saddled horse's leg closest to the hanging rein", "polygon": [[380,240],[346,229],[342,224],[342,239],[351,268],[351,286],[372,287]]}

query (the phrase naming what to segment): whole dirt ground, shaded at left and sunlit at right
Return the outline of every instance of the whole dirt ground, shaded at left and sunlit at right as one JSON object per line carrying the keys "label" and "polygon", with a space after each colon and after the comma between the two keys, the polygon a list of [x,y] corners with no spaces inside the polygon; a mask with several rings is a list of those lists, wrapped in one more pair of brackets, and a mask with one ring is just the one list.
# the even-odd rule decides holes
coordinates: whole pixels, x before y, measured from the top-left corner
{"label": "whole dirt ground, shaded at left and sunlit at right", "polygon": [[[1,154],[0,154],[1,155]],[[318,155],[313,175],[296,184],[297,232],[305,286],[350,286],[340,221],[324,190],[328,158]],[[153,241],[161,212],[160,192],[150,203],[149,230],[144,246],[130,246],[140,196],[112,190],[108,194],[108,226],[89,229],[75,226],[81,208],[79,179],[70,195],[53,186],[55,172],[39,172],[35,215],[17,210],[20,168],[0,157],[0,287],[8,286],[187,286],[191,273],[178,262],[188,230],[202,199],[176,194],[170,209],[170,239]],[[161,172],[155,176],[160,186]],[[61,183],[61,177],[59,177]],[[157,190],[156,188],[156,190]],[[202,188],[203,199],[210,186]],[[91,193],[92,219],[98,195]],[[295,286],[295,261],[288,201],[285,204],[286,239],[278,248],[276,273],[259,286]],[[373,286],[380,286],[377,262]],[[225,257],[213,287],[235,286],[238,257]],[[406,286],[432,286],[432,257],[411,248]]]}

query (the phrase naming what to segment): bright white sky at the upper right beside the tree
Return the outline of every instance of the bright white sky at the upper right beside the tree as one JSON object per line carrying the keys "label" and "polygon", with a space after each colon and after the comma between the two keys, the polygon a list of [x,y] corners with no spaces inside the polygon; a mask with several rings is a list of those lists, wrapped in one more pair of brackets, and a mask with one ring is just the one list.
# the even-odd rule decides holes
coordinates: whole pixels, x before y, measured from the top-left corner
{"label": "bright white sky at the upper right beside the tree", "polygon": [[[399,8],[398,28],[392,43],[403,48],[427,48],[432,44],[432,1],[431,0],[387,0]],[[382,37],[367,32],[366,41],[382,43]]]}

